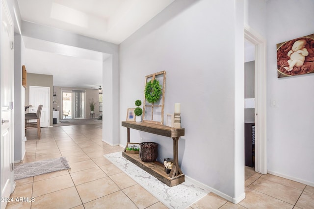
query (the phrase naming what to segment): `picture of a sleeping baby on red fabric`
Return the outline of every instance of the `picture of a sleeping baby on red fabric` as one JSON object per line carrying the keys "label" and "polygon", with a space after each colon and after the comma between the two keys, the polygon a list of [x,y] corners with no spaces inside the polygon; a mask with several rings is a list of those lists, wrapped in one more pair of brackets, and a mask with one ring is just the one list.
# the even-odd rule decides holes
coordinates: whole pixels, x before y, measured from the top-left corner
{"label": "picture of a sleeping baby on red fabric", "polygon": [[277,44],[278,78],[314,72],[314,34]]}

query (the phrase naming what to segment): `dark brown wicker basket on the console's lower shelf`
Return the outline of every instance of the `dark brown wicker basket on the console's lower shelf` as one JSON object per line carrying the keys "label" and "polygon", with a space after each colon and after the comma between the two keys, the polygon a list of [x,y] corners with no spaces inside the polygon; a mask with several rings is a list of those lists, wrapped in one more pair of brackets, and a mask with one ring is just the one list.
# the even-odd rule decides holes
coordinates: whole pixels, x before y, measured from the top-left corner
{"label": "dark brown wicker basket on the console's lower shelf", "polygon": [[139,144],[139,158],[143,162],[154,162],[158,156],[158,144],[155,142],[142,142]]}

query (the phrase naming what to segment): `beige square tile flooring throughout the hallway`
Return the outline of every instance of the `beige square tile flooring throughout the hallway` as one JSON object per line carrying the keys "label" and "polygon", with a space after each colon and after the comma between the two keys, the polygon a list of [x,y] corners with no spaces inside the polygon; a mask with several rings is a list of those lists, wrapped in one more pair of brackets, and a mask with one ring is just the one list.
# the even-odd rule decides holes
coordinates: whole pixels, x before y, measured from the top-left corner
{"label": "beige square tile flooring throughout the hallway", "polygon": [[[166,209],[161,202],[103,157],[122,151],[102,141],[102,125],[27,130],[24,163],[65,156],[71,169],[16,181],[6,209]],[[245,168],[246,198],[235,205],[209,193],[188,209],[314,209],[314,187]]]}

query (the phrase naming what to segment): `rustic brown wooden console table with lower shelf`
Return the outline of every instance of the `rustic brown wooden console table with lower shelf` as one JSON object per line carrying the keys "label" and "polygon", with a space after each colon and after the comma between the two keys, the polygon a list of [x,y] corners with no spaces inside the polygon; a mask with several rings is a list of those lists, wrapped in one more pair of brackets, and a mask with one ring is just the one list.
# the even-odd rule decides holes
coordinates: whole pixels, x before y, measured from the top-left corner
{"label": "rustic brown wooden console table with lower shelf", "polygon": [[130,128],[144,131],[160,136],[170,137],[173,139],[173,167],[169,175],[164,171],[164,165],[159,162],[145,163],[142,162],[138,154],[130,154],[122,152],[122,156],[141,167],[143,170],[155,176],[159,181],[168,186],[179,185],[184,182],[184,174],[182,173],[178,163],[178,141],[184,136],[184,128],[172,128],[154,123],[122,121],[122,126],[127,127],[128,142],[130,142]]}

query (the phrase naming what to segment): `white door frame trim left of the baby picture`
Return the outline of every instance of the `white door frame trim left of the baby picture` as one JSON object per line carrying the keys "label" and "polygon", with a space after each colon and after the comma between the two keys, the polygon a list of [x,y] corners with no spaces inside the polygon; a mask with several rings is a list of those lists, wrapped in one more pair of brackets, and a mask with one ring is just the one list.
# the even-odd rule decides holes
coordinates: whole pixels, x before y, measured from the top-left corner
{"label": "white door frame trim left of the baby picture", "polygon": [[266,40],[246,24],[244,39],[255,45],[255,171],[267,174]]}

